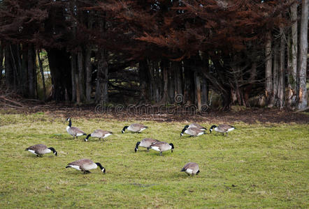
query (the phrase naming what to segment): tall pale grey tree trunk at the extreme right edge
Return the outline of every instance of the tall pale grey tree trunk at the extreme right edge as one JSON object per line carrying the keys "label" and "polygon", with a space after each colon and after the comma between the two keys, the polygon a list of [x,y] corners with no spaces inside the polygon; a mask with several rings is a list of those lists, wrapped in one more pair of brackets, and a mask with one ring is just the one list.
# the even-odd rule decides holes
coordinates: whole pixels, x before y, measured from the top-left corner
{"label": "tall pale grey tree trunk at the extreme right edge", "polygon": [[298,109],[307,107],[307,58],[308,58],[308,0],[303,0],[301,5],[301,31],[299,38],[299,99]]}

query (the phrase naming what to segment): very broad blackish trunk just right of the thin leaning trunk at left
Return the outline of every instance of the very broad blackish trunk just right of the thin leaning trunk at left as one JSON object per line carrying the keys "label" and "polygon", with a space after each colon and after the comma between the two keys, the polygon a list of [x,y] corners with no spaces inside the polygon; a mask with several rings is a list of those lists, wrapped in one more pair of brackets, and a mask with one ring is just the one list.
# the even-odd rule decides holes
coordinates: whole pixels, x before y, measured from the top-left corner
{"label": "very broad blackish trunk just right of the thin leaning trunk at left", "polygon": [[[70,57],[65,49],[48,49],[48,63],[52,77],[51,99],[64,101],[66,92],[71,93]],[[70,96],[70,95],[69,95]]]}

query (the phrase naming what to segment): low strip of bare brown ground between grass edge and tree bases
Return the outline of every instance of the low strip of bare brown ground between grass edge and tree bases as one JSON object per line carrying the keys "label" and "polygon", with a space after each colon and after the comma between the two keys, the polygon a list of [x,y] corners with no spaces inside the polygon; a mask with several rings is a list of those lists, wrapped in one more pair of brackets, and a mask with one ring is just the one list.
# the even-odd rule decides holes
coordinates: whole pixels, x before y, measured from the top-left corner
{"label": "low strip of bare brown ground between grass edge and tree bases", "polygon": [[155,114],[139,114],[129,110],[96,111],[96,106],[87,105],[75,107],[68,104],[42,104],[41,102],[28,101],[20,103],[22,106],[10,107],[0,104],[0,112],[5,114],[31,114],[40,113],[48,114],[53,117],[89,117],[89,118],[110,118],[118,120],[143,120],[158,122],[201,122],[201,123],[309,123],[308,112],[293,112],[279,109],[257,109],[245,108],[240,111],[213,111],[206,114],[189,114],[189,113],[169,113],[166,109],[155,111]]}

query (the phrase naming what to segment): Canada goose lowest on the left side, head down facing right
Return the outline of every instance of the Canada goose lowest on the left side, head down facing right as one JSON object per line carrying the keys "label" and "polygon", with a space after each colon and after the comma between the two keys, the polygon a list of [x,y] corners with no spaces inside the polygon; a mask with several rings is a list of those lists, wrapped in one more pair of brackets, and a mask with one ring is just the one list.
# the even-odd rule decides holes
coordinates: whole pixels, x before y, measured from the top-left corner
{"label": "Canada goose lowest on the left side, head down facing right", "polygon": [[99,162],[92,162],[92,160],[89,159],[80,159],[80,160],[76,160],[74,162],[70,162],[67,166],[67,168],[73,168],[76,169],[78,171],[83,171],[84,173],[90,173],[89,170],[91,169],[96,169],[97,167],[100,167],[101,171],[103,173],[106,172],[106,169],[104,167],[102,167],[101,163]]}

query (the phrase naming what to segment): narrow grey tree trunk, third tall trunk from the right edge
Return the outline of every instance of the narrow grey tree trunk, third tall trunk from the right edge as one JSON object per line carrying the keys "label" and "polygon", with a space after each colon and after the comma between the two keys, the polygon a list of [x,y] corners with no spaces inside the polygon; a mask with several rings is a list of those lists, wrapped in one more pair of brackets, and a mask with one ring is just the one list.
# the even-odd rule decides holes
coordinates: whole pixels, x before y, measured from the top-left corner
{"label": "narrow grey tree trunk, third tall trunk from the right edge", "polygon": [[280,75],[278,84],[278,99],[280,109],[285,104],[285,30],[280,28]]}

